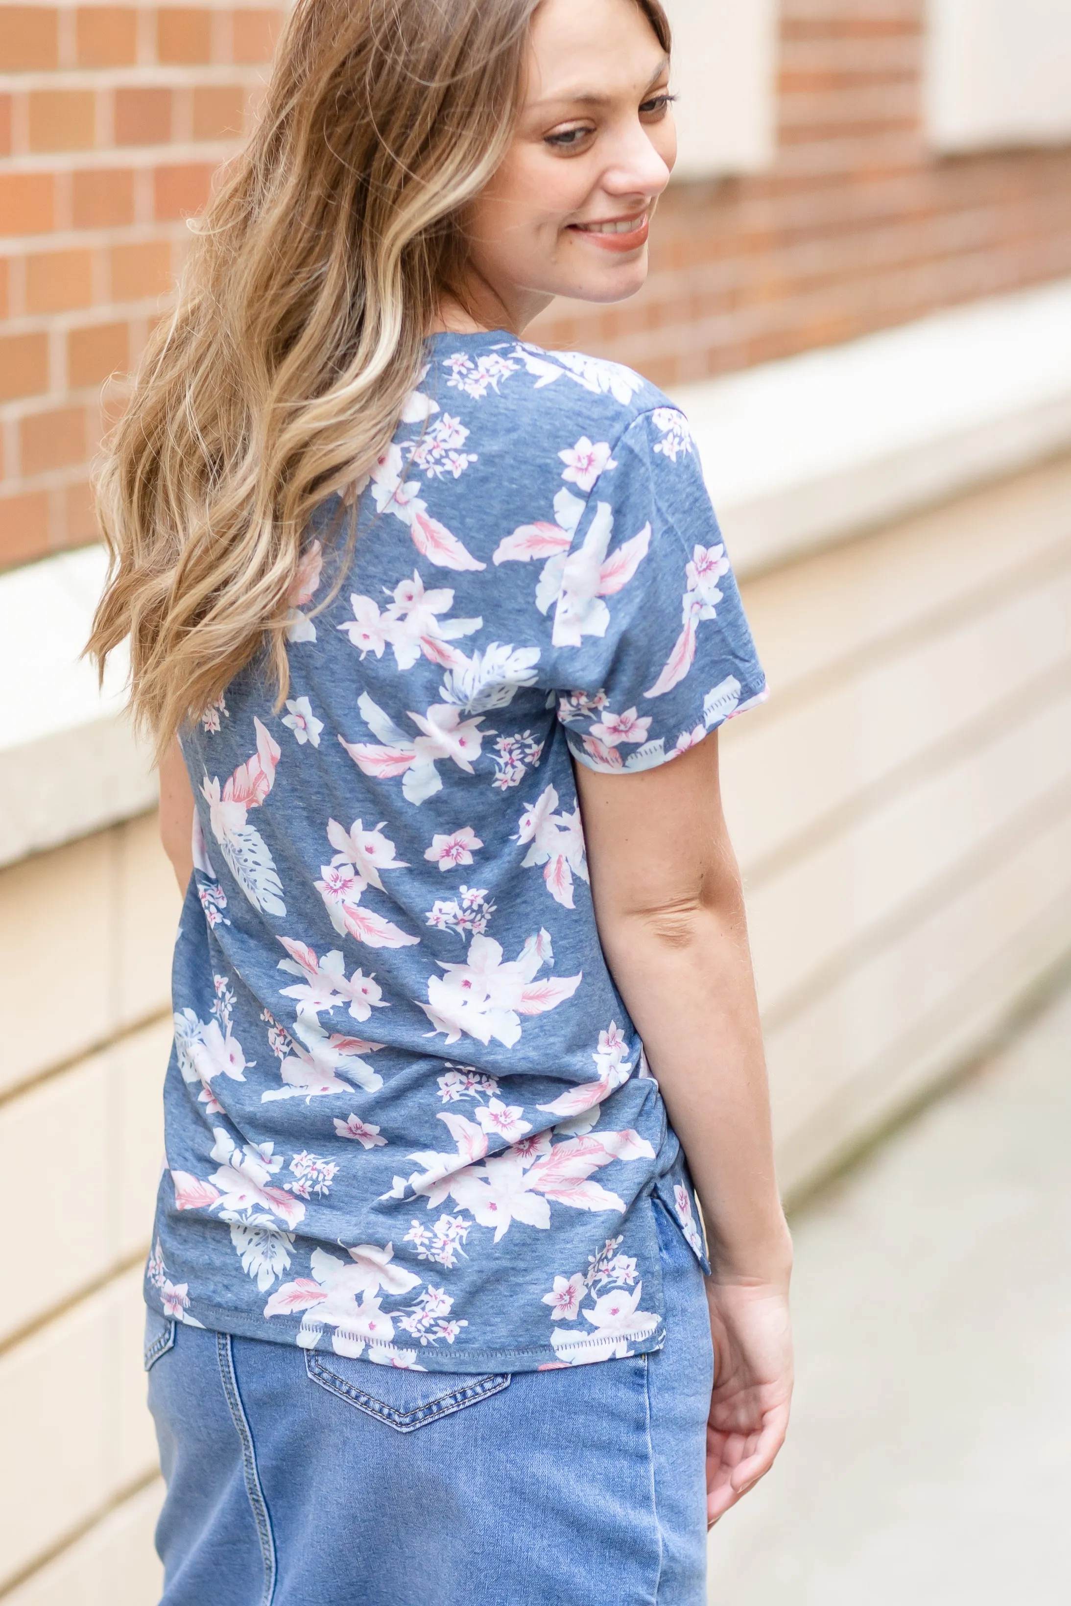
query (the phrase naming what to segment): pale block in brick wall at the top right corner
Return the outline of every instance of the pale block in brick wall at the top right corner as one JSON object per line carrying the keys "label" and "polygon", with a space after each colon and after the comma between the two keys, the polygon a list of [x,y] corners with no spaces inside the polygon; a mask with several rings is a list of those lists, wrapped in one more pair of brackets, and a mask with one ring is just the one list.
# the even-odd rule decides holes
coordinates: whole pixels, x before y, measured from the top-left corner
{"label": "pale block in brick wall at the top right corner", "polygon": [[926,101],[943,151],[1071,140],[1071,0],[930,0]]}

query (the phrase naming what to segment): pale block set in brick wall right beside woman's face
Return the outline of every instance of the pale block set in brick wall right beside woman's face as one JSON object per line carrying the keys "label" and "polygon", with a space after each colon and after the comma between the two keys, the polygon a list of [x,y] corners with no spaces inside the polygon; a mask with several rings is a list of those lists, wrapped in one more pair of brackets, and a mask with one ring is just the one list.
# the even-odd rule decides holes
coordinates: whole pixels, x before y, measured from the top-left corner
{"label": "pale block set in brick wall right beside woman's face", "polygon": [[777,0],[665,0],[673,26],[678,178],[764,167],[774,154]]}

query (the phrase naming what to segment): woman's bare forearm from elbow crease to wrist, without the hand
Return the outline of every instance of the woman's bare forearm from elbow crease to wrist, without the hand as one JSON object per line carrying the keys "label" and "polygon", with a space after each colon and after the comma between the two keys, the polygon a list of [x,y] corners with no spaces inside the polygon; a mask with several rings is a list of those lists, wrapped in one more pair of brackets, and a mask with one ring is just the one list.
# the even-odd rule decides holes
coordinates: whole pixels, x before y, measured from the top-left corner
{"label": "woman's bare forearm from elbow crease to wrist, without the hand", "polygon": [[601,930],[695,1180],[716,1275],[787,1282],[763,1041],[742,899]]}

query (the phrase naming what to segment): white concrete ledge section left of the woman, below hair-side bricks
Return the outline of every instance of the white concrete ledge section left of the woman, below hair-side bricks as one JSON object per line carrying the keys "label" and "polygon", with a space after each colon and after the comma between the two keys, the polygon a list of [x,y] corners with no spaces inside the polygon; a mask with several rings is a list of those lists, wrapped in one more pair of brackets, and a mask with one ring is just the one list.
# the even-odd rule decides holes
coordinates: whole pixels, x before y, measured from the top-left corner
{"label": "white concrete ledge section left of the woman, below hair-side bricks", "polygon": [[100,546],[0,575],[0,866],[130,819],[156,801],[124,716],[124,655],[103,691],[79,660],[104,581]]}

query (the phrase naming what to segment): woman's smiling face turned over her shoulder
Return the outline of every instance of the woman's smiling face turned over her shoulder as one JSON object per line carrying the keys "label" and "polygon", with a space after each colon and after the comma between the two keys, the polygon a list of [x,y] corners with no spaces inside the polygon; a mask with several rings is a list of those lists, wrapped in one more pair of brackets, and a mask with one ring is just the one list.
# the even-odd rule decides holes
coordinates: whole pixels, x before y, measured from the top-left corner
{"label": "woman's smiling face turned over her shoulder", "polygon": [[543,0],[514,143],[467,217],[470,308],[520,329],[554,296],[615,302],[647,276],[676,133],[670,63],[636,0]]}

